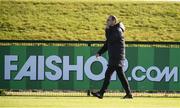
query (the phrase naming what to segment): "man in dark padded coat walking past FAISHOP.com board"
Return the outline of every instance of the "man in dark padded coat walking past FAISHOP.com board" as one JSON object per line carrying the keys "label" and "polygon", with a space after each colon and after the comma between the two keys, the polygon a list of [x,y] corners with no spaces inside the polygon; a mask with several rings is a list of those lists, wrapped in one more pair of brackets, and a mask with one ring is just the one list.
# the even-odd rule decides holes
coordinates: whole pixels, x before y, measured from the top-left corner
{"label": "man in dark padded coat walking past FAISHOP.com board", "polygon": [[133,98],[130,90],[129,83],[123,72],[124,60],[125,60],[125,41],[124,33],[125,27],[122,23],[119,23],[117,18],[110,15],[107,19],[107,25],[105,29],[106,41],[104,46],[98,51],[96,57],[101,56],[104,52],[108,51],[109,61],[108,68],[105,73],[105,79],[103,86],[98,92],[91,92],[91,94],[99,99],[103,98],[103,95],[110,83],[111,75],[116,70],[119,80],[122,83],[123,88],[126,91],[126,95],[123,97]]}

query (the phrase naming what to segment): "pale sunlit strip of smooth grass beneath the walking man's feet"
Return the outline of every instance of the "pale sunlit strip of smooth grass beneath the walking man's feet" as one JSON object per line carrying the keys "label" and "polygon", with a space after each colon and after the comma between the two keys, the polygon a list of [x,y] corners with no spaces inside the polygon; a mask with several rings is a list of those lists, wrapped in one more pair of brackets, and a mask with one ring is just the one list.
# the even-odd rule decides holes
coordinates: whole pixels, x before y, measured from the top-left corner
{"label": "pale sunlit strip of smooth grass beneath the walking man's feet", "polygon": [[179,98],[0,97],[1,108],[179,108]]}

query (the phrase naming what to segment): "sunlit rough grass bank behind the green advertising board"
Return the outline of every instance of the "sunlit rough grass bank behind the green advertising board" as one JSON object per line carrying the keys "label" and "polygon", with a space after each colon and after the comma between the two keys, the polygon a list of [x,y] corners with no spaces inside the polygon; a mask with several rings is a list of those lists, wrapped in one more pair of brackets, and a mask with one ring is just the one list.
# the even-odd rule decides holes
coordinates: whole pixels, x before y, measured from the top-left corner
{"label": "sunlit rough grass bank behind the green advertising board", "polygon": [[180,2],[153,0],[0,0],[0,39],[104,40],[114,14],[127,41],[180,41],[179,12]]}

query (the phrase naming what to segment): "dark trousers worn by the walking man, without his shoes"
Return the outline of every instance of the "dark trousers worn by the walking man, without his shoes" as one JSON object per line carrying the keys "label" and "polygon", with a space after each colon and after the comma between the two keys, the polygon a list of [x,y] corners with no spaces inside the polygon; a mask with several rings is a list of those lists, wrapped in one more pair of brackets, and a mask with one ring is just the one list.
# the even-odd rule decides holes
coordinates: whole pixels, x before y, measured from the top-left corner
{"label": "dark trousers worn by the walking man, without his shoes", "polygon": [[123,72],[123,68],[120,66],[117,66],[117,67],[108,66],[106,73],[105,73],[105,79],[103,82],[103,86],[100,90],[100,93],[104,93],[106,91],[106,89],[110,83],[110,80],[111,80],[111,75],[113,74],[113,72],[115,70],[117,72],[117,76],[118,76],[119,80],[121,81],[121,84],[122,84],[124,90],[126,91],[126,94],[131,94],[129,83],[128,83],[126,76]]}

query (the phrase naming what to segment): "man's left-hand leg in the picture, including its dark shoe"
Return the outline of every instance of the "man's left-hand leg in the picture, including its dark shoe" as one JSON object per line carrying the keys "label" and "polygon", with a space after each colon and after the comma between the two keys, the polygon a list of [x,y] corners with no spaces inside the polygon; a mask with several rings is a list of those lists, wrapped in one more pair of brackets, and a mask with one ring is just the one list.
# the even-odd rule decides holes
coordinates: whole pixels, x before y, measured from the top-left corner
{"label": "man's left-hand leg in the picture, including its dark shoe", "polygon": [[110,80],[111,80],[111,75],[112,73],[115,71],[115,68],[112,67],[112,66],[108,66],[107,70],[106,70],[106,73],[105,73],[105,79],[104,79],[104,82],[103,82],[103,85],[102,85],[102,88],[99,92],[91,92],[91,94],[95,97],[98,97],[100,99],[103,98],[103,95],[104,95],[104,92],[107,90],[107,87],[110,83]]}

